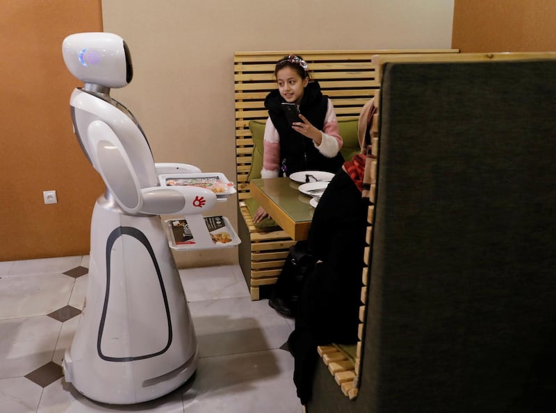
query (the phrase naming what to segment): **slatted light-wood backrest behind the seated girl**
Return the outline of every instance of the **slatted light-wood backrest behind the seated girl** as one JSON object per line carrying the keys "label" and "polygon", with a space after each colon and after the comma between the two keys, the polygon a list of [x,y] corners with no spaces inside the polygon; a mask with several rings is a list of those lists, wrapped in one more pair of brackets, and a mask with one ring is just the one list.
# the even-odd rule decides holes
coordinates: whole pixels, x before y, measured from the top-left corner
{"label": "slatted light-wood backrest behind the seated girl", "polygon": [[[322,93],[332,99],[338,119],[354,119],[363,105],[375,95],[379,82],[371,64],[373,55],[382,53],[445,53],[456,50],[363,50],[298,51],[309,64],[309,74],[320,83]],[[234,53],[236,108],[236,185],[238,200],[249,196],[247,175],[251,169],[253,140],[251,120],[265,121],[265,96],[276,89],[276,62],[291,51],[238,51]]]}

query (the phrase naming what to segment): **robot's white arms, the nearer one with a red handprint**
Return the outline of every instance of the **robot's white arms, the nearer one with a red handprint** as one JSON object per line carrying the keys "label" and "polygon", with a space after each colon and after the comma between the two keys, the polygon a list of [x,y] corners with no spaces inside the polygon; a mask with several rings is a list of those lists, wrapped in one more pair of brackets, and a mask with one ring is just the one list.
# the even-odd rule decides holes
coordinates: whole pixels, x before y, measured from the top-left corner
{"label": "robot's white arms, the nearer one with a red handprint", "polygon": [[[188,186],[141,188],[122,142],[103,121],[90,123],[88,137],[93,166],[124,211],[130,214],[201,214],[214,207],[216,195],[209,189]],[[163,165],[162,168],[177,165],[184,169],[197,169],[186,164],[159,165]],[[170,168],[176,171],[176,166]]]}

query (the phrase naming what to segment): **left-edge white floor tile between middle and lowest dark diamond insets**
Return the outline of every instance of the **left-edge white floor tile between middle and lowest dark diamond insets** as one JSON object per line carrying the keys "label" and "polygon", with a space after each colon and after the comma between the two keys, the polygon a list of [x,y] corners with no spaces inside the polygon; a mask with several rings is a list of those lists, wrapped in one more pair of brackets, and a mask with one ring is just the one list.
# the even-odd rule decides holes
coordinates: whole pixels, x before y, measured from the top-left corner
{"label": "left-edge white floor tile between middle and lowest dark diamond insets", "polygon": [[0,378],[25,376],[50,362],[60,328],[47,316],[0,320]]}

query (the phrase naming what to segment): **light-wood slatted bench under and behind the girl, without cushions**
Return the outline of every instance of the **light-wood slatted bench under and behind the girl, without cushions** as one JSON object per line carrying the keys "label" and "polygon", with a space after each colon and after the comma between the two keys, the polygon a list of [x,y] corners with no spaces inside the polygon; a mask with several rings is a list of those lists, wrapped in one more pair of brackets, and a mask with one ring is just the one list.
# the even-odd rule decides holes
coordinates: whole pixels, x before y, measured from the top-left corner
{"label": "light-wood slatted bench under and behind the girl, without cushions", "polygon": [[[309,63],[311,78],[320,83],[323,94],[334,103],[338,121],[357,119],[363,105],[379,89],[371,57],[381,53],[434,53],[439,50],[296,51]],[[250,287],[252,300],[268,292],[295,244],[280,228],[256,228],[245,205],[249,196],[248,176],[252,167],[254,142],[250,121],[264,122],[268,112],[265,96],[276,89],[275,63],[291,51],[246,51],[234,53],[236,112],[236,185],[238,227],[242,243],[239,261]],[[263,293],[262,296],[268,296]]]}

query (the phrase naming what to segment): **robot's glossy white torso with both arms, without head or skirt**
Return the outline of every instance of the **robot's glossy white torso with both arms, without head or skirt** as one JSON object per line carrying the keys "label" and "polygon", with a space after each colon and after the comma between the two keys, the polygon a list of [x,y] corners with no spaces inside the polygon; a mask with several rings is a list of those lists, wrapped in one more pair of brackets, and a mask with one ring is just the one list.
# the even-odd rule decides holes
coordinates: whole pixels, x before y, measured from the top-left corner
{"label": "robot's glossy white torso with both arms, without head or skirt", "polygon": [[158,164],[157,169],[147,139],[129,110],[79,89],[72,93],[70,107],[81,148],[126,213],[201,214],[214,207],[217,199],[208,189],[158,185],[159,170],[199,169],[185,164]]}

